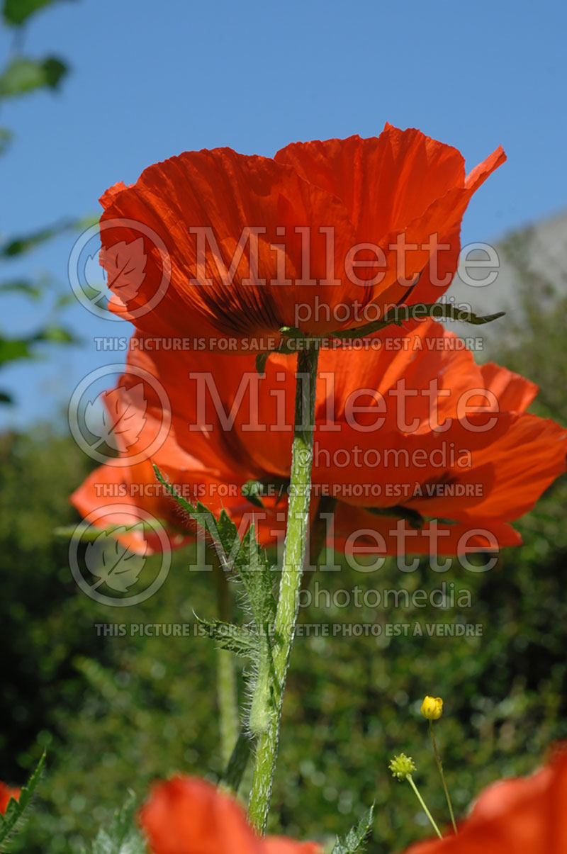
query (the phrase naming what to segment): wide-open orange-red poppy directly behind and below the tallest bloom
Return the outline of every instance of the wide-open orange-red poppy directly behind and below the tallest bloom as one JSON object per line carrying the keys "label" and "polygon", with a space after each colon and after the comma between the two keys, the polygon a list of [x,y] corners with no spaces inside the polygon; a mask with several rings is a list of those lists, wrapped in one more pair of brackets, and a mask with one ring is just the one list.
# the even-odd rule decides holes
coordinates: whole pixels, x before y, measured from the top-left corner
{"label": "wide-open orange-red poppy directly behind and below the tallest bloom", "polygon": [[[281,539],[295,358],[273,356],[259,377],[249,356],[157,349],[150,358],[143,336],[133,343],[130,360],[155,372],[171,401],[172,429],[155,464],[188,499],[213,512],[225,507],[237,523],[247,513],[262,542]],[[336,500],[335,547],[454,555],[517,545],[509,523],[564,471],[567,432],[525,412],[533,383],[496,365],[476,366],[440,324],[420,323],[398,344],[395,352],[320,354],[312,503]],[[120,501],[187,530],[158,484],[159,497],[146,497],[143,484],[154,483],[146,464],[94,471],[74,505],[91,512],[108,494],[100,484],[119,478],[126,485]],[[263,508],[243,497],[248,481],[263,486]]]}

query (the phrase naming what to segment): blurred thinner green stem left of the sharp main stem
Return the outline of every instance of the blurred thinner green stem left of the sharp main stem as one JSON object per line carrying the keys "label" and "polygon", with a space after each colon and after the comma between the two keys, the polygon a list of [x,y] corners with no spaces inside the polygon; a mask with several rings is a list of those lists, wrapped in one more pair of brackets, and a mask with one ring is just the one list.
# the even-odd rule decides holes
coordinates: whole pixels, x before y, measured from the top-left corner
{"label": "blurred thinner green stem left of the sharp main stem", "polygon": [[[231,592],[225,572],[216,554],[211,557],[217,589],[219,619],[232,622]],[[217,653],[217,703],[219,706],[220,756],[223,766],[228,764],[237,743],[240,724],[238,721],[237,675],[234,653],[218,649]]]}

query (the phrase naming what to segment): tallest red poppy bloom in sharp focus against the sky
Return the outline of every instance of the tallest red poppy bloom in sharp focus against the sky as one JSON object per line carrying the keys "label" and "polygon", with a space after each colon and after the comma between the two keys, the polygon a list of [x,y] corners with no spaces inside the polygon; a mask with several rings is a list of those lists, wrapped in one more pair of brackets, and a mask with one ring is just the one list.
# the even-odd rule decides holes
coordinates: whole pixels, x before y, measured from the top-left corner
{"label": "tallest red poppy bloom in sharp focus against the sky", "polygon": [[239,341],[435,302],[457,269],[465,208],[505,160],[496,149],[465,175],[457,149],[390,125],[273,159],[184,152],[102,196],[111,307],[150,332]]}

